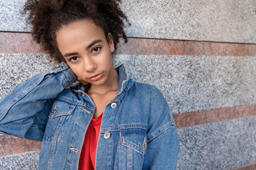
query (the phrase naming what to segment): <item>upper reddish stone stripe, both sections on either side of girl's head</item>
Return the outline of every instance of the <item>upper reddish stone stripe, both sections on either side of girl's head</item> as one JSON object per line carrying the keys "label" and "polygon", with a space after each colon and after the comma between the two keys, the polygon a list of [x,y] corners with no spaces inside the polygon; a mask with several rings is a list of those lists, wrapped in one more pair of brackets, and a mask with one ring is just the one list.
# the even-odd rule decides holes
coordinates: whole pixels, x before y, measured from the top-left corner
{"label": "upper reddish stone stripe, both sections on either side of girl's head", "polygon": [[[0,53],[44,53],[29,33],[0,32]],[[194,40],[120,39],[117,55],[255,56],[256,44]]]}

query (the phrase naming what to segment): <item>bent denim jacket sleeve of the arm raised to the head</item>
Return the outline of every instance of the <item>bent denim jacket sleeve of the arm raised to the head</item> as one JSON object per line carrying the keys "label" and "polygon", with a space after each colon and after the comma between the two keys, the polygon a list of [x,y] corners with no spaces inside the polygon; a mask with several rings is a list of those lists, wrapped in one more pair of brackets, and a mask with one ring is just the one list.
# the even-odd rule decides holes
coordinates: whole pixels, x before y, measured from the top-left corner
{"label": "bent denim jacket sleeve of the arm raised to the head", "polygon": [[0,132],[42,140],[52,100],[76,81],[65,63],[37,74],[0,100]]}

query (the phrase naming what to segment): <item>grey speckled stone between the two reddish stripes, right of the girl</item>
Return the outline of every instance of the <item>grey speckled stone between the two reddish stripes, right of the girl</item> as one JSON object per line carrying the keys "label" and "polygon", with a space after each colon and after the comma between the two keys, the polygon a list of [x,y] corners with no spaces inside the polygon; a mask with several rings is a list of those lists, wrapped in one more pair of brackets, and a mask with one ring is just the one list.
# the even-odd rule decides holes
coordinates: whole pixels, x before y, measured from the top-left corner
{"label": "grey speckled stone between the two reddish stripes, right of the girl", "polygon": [[173,113],[256,102],[255,57],[118,55],[116,60],[134,79],[158,87]]}

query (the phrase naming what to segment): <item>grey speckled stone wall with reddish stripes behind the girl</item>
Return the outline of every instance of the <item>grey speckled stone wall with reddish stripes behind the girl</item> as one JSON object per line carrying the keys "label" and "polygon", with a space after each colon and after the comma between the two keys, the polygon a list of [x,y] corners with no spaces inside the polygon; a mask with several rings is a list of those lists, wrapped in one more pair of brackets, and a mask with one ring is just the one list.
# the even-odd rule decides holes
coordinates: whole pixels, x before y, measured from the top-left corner
{"label": "grey speckled stone wall with reddish stripes behind the girl", "polygon": [[[0,1],[0,98],[56,64],[31,41],[23,3]],[[178,127],[177,169],[255,166],[256,1],[123,0],[122,8],[132,26],[114,63],[164,94]],[[36,169],[40,147],[1,135],[0,169]]]}

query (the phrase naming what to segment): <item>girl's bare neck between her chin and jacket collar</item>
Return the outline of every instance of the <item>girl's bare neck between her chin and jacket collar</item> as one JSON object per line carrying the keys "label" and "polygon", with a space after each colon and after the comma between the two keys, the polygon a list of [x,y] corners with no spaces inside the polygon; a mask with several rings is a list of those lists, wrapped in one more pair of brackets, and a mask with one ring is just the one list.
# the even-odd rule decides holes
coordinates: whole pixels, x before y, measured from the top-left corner
{"label": "girl's bare neck between her chin and jacket collar", "polygon": [[102,85],[94,85],[90,86],[88,94],[106,94],[109,91],[117,91],[119,84],[119,75],[117,71],[112,67],[111,76],[107,79],[107,82]]}

